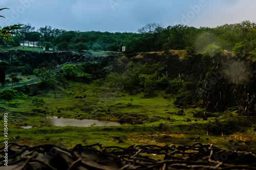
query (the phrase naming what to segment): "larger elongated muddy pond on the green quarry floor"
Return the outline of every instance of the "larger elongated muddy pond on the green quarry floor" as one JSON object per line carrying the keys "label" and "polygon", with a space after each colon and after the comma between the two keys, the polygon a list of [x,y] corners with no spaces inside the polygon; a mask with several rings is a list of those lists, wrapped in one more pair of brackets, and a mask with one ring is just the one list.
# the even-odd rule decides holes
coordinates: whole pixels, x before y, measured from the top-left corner
{"label": "larger elongated muddy pond on the green quarry floor", "polygon": [[94,126],[120,126],[116,122],[105,122],[93,119],[74,119],[74,118],[58,118],[57,116],[46,117],[46,120],[53,126],[76,126],[76,127],[90,127]]}

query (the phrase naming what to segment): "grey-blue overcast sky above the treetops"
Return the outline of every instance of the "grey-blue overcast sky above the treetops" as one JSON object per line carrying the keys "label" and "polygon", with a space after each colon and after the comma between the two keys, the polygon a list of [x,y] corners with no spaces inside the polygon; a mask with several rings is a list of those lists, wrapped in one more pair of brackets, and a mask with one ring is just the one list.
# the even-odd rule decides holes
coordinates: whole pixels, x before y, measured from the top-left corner
{"label": "grey-blue overcast sky above the treetops", "polygon": [[137,32],[147,23],[217,27],[256,21],[255,0],[1,0],[0,26]]}

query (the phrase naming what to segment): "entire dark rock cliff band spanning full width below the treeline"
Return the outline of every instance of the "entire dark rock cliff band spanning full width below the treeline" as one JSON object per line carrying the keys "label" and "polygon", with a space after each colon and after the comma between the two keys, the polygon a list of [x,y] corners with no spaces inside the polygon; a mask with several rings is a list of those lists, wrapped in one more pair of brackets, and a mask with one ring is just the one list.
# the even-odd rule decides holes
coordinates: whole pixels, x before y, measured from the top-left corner
{"label": "entire dark rock cliff band spanning full width below the treeline", "polygon": [[36,68],[42,62],[58,66],[66,62],[98,62],[106,74],[122,73],[131,62],[152,64],[160,62],[159,77],[168,76],[193,82],[196,98],[207,111],[224,111],[237,106],[243,112],[255,112],[256,65],[250,59],[189,55],[185,51],[140,53],[137,55],[92,56],[73,52],[37,53],[27,51],[0,52],[0,59],[12,64],[13,57],[21,56],[24,64]]}

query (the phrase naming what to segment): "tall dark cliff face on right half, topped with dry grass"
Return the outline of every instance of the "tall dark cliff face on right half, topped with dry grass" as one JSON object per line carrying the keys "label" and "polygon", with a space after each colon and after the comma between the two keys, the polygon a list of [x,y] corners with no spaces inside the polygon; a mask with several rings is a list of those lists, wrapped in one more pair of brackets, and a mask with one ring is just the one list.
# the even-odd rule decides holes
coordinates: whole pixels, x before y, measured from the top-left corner
{"label": "tall dark cliff face on right half, topped with dry grass", "polygon": [[161,62],[161,74],[193,82],[198,100],[207,111],[225,111],[236,106],[244,113],[256,109],[256,65],[251,59],[222,54],[216,57],[188,55],[182,51],[144,53],[134,62]]}

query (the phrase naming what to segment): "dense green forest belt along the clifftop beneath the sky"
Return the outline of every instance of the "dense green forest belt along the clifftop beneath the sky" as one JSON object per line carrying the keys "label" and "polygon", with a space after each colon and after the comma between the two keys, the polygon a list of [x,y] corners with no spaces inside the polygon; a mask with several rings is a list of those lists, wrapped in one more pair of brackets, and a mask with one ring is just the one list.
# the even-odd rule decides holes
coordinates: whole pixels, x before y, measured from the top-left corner
{"label": "dense green forest belt along the clifftop beneath the sky", "polygon": [[[51,26],[35,28],[30,24],[24,29],[15,30],[16,34],[8,45],[20,45],[23,39],[39,41],[46,50],[94,50],[126,52],[153,52],[164,50],[187,50],[189,53],[221,53],[233,51],[238,55],[255,52],[256,24],[248,20],[241,23],[226,24],[216,28],[188,27],[184,25],[163,27],[159,23],[148,23],[138,33],[110,33],[99,31],[66,31]],[[0,41],[2,45],[6,42]]]}

